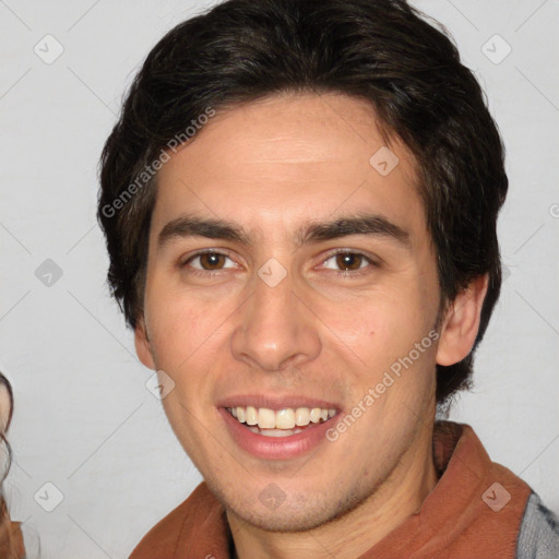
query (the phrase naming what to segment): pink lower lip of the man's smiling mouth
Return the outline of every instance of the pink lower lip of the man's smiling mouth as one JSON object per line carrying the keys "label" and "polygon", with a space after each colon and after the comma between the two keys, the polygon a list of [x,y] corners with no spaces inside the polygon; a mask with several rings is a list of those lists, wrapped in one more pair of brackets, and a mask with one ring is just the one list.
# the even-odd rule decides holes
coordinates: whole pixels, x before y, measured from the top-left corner
{"label": "pink lower lip of the man's smiling mouth", "polygon": [[325,433],[334,425],[334,419],[341,415],[328,419],[322,424],[314,424],[307,427],[304,431],[288,437],[265,437],[263,435],[253,433],[242,424],[237,421],[235,417],[224,407],[218,408],[225,420],[230,435],[235,442],[250,454],[265,460],[288,460],[300,456],[311,449],[318,447],[321,442],[326,441]]}

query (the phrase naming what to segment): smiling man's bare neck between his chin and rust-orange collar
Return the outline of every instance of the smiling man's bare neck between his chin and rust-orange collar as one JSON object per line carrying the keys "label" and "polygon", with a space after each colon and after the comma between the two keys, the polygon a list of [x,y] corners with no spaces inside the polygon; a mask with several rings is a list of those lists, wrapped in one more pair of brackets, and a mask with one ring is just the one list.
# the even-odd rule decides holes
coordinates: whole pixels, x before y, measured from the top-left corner
{"label": "smiling man's bare neck between his chin and rust-orange collar", "polygon": [[421,508],[438,481],[432,456],[433,421],[427,421],[416,444],[390,476],[357,508],[314,530],[271,533],[228,511],[235,559],[354,559],[365,554]]}

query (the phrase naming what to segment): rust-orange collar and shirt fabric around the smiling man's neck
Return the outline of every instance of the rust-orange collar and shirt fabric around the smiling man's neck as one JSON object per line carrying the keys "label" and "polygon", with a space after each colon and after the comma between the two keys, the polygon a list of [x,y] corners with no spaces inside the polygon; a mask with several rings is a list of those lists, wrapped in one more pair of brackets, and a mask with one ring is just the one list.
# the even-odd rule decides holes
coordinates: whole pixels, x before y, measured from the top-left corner
{"label": "rust-orange collar and shirt fabric around the smiling man's neck", "polygon": [[[358,559],[515,559],[530,486],[491,462],[468,425],[437,421],[432,449],[439,481],[419,512]],[[226,559],[233,549],[225,510],[202,483],[130,559]]]}

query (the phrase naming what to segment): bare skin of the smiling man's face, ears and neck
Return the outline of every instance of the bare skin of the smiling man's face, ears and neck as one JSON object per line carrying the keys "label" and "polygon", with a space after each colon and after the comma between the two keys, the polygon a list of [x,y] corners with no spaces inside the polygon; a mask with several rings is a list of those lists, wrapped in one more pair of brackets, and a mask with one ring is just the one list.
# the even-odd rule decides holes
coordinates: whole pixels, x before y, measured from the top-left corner
{"label": "bare skin of the smiling man's face, ears and neck", "polygon": [[[257,459],[216,407],[238,394],[298,394],[349,413],[433,330],[440,289],[415,160],[392,139],[400,163],[381,176],[369,159],[383,145],[365,102],[286,94],[221,111],[159,171],[136,350],[174,379],[165,412],[225,504],[240,558],[357,557],[417,512],[437,483],[435,366],[472,348],[485,277],[445,307],[438,343],[335,442]],[[203,237],[158,246],[165,225],[187,213],[235,222],[253,246]],[[311,221],[361,213],[390,219],[407,242],[355,235],[295,243]],[[200,249],[225,257],[189,261]],[[361,274],[337,276],[337,249],[374,265],[354,257]],[[271,258],[287,272],[273,288],[258,275]],[[275,510],[259,500],[271,483],[285,495]]]}

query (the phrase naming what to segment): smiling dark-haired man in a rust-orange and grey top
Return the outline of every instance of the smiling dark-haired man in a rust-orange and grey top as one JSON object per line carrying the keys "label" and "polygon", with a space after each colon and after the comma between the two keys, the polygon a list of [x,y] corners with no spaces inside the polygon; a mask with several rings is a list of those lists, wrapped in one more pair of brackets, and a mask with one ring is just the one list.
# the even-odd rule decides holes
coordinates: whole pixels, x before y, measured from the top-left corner
{"label": "smiling dark-haired man in a rust-orange and grey top", "polygon": [[499,296],[507,189],[478,82],[403,0],[229,0],[163,37],[98,217],[204,480],[131,558],[559,557],[538,495],[436,415]]}

